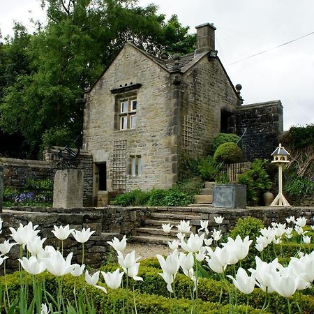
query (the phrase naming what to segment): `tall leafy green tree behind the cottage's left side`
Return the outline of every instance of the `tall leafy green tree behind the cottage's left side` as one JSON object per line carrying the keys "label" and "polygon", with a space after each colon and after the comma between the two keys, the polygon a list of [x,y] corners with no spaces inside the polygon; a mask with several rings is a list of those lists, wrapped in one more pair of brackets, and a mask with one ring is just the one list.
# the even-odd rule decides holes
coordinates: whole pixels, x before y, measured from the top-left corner
{"label": "tall leafy green tree behind the cottage's left side", "polygon": [[156,55],[193,51],[195,36],[176,15],[165,22],[156,6],[141,8],[135,3],[42,0],[47,26],[32,36],[21,27],[6,43],[8,52],[17,50],[18,57],[6,63],[10,70],[5,73],[10,75],[1,83],[0,127],[21,134],[30,156],[36,156],[43,144],[70,144],[80,135],[83,105],[77,99],[126,40]]}

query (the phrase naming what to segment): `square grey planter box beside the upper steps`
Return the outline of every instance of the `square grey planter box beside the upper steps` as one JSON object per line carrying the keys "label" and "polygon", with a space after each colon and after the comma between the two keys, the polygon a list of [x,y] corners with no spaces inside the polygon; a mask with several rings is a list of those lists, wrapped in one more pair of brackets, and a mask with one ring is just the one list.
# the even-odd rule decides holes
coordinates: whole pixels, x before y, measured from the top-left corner
{"label": "square grey planter box beside the upper steps", "polygon": [[213,207],[246,208],[246,186],[214,184]]}

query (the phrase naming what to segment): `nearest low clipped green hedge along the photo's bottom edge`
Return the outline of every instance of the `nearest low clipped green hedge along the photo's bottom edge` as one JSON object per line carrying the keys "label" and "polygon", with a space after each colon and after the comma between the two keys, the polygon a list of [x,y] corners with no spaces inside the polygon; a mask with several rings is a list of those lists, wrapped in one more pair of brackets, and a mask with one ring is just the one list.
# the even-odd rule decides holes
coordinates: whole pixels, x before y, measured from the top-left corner
{"label": "nearest low clipped green hedge along the photo's bottom edge", "polygon": [[[111,265],[113,267],[113,265]],[[32,285],[32,276],[22,271],[23,282],[29,284],[29,301],[32,298],[31,295],[31,285]],[[159,275],[158,275],[159,276]],[[56,280],[57,278],[51,274],[44,272],[43,274],[38,275],[38,278],[45,280],[45,288],[47,292],[52,294],[52,297],[56,298]],[[101,290],[91,287],[87,284],[84,284],[84,279],[73,278],[72,276],[65,276],[63,279],[63,299],[74,306],[74,294],[73,294],[73,285],[74,281],[76,282],[76,294],[80,294],[80,290],[83,285],[87,288],[87,295],[91,301],[91,296],[94,300],[94,309],[96,313],[114,313],[114,308],[116,313],[121,313],[123,308],[123,300],[129,300],[130,306],[133,304],[133,293],[128,290],[110,290],[105,294]],[[1,277],[1,283],[4,285],[4,278]],[[10,294],[10,299],[16,299],[20,291],[20,274],[15,272],[13,274],[7,275],[6,283],[8,285],[8,292]],[[163,290],[165,288],[163,287]],[[15,297],[15,298],[14,298]],[[191,313],[193,302],[189,299],[170,299],[156,294],[145,294],[140,293],[139,291],[135,292],[135,301],[137,306],[137,313],[158,313],[158,314],[188,314]],[[195,306],[195,304],[194,304]],[[227,314],[230,313],[229,305],[221,305],[216,302],[201,301],[199,303],[200,313],[204,314]],[[219,309],[219,310],[218,310]],[[244,314],[246,313],[246,306],[239,305],[237,307],[237,313]],[[248,313],[257,314],[260,313],[259,310],[249,307]],[[264,312],[267,314],[266,312]]]}

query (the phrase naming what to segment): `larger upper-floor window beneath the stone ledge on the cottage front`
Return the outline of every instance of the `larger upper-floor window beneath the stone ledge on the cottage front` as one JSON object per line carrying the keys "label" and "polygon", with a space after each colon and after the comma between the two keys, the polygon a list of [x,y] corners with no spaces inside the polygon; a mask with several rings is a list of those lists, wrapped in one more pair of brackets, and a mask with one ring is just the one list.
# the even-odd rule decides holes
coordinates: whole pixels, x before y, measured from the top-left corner
{"label": "larger upper-floor window beneath the stone ledge on the cottage front", "polygon": [[119,107],[120,130],[136,128],[136,110],[137,110],[136,99],[127,99],[120,102]]}

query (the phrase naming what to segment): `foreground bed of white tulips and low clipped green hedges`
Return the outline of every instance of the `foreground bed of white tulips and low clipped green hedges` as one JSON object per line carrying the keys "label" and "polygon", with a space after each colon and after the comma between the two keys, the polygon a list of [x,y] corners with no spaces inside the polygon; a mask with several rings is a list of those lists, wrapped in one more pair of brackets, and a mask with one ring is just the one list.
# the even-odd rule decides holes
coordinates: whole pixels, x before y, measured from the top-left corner
{"label": "foreground bed of white tulips and low clipped green hedges", "polygon": [[[197,234],[190,223],[177,225],[178,240],[167,257],[138,262],[124,255],[126,237],[108,244],[118,263],[96,271],[85,267],[84,244],[94,232],[55,226],[58,250],[43,246],[38,226],[10,227],[13,242],[0,244],[0,297],[6,313],[312,313],[314,308],[314,227],[305,218],[264,228],[252,218],[233,231],[209,232],[201,221]],[[0,227],[2,222],[0,220]],[[163,225],[170,233],[174,226]],[[254,234],[250,239],[246,233]],[[241,237],[239,236],[241,234]],[[63,257],[63,241],[72,235],[82,246],[82,264]],[[12,246],[20,246],[20,271],[6,274]],[[60,251],[59,251],[60,250]],[[24,270],[22,270],[24,269]]]}

